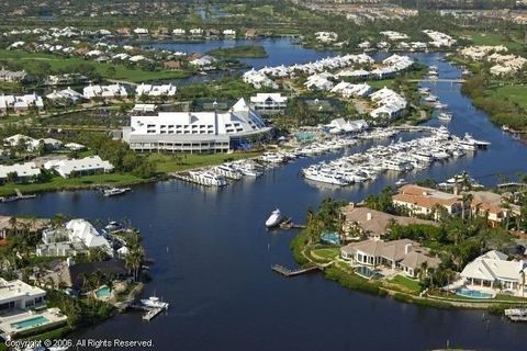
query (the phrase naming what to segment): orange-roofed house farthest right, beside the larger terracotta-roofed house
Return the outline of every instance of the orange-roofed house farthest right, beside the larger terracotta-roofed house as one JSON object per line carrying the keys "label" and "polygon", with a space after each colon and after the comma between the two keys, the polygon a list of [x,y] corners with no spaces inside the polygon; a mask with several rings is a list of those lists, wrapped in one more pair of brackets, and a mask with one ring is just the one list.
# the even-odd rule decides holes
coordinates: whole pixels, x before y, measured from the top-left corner
{"label": "orange-roofed house farthest right, beside the larger terracotta-roofed house", "polygon": [[502,195],[490,191],[469,191],[462,194],[471,196],[470,211],[474,216],[486,217],[489,226],[495,228],[507,218],[520,215],[520,207],[504,202]]}

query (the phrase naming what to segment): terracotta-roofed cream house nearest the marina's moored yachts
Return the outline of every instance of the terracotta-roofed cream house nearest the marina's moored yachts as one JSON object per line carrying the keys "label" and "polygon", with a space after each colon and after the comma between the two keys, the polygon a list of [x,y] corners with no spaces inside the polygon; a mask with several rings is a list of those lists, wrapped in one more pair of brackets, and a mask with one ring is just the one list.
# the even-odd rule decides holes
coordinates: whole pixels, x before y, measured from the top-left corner
{"label": "terracotta-roofed cream house nearest the marina's moored yachts", "polygon": [[437,207],[445,208],[449,215],[461,213],[463,207],[459,195],[413,184],[402,186],[392,201],[394,205],[406,208],[412,216],[434,214],[436,219]]}

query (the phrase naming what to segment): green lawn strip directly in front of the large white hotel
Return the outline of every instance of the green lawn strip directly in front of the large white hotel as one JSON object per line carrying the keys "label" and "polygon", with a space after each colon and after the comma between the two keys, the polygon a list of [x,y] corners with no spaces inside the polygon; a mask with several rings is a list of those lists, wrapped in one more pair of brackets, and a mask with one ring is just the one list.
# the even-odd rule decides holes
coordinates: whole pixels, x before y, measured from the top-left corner
{"label": "green lawn strip directly in front of the large white hotel", "polygon": [[180,172],[192,168],[221,165],[229,160],[256,157],[260,152],[235,152],[235,154],[211,154],[211,155],[160,155],[154,154],[149,158],[156,162],[158,172]]}

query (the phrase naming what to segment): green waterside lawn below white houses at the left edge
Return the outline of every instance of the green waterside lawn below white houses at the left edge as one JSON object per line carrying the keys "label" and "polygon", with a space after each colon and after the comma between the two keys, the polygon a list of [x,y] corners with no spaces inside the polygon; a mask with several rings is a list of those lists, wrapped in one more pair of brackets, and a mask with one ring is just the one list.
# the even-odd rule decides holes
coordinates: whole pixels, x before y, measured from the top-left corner
{"label": "green waterside lawn below white houses at the left edge", "polygon": [[80,178],[64,179],[61,177],[54,177],[52,181],[45,183],[29,183],[29,184],[13,184],[8,183],[0,185],[0,196],[14,195],[14,189],[19,189],[23,194],[33,194],[43,191],[56,191],[56,190],[75,190],[82,188],[90,188],[97,185],[114,185],[123,186],[134,183],[144,182],[143,179],[120,173],[109,174],[94,174]]}

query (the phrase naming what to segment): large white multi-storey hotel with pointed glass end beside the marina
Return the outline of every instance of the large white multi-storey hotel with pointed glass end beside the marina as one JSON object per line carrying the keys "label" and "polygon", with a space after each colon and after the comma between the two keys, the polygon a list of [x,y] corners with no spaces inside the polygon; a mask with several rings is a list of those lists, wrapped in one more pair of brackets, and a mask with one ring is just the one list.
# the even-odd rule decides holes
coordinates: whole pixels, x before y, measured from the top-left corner
{"label": "large white multi-storey hotel with pointed glass end beside the marina", "polygon": [[260,115],[239,99],[227,112],[159,112],[133,115],[123,139],[137,151],[226,152],[253,138],[266,137]]}

